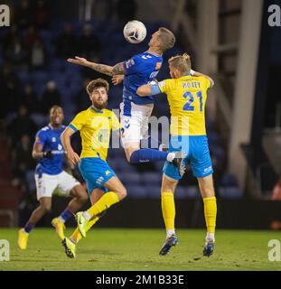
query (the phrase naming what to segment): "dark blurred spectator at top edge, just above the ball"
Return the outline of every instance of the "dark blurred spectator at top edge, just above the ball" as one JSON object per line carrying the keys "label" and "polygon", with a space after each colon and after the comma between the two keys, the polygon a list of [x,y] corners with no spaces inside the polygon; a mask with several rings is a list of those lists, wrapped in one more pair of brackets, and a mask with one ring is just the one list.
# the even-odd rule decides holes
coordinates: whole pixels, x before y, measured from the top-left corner
{"label": "dark blurred spectator at top edge, just above the ball", "polygon": [[136,18],[136,10],[137,5],[135,0],[117,1],[117,17],[122,26]]}

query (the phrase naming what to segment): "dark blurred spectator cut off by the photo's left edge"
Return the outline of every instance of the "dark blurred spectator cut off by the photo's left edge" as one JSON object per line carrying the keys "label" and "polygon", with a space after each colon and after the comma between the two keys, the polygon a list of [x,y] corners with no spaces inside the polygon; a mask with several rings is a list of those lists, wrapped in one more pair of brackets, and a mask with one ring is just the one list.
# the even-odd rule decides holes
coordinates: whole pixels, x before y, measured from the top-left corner
{"label": "dark blurred spectator cut off by the photo's left edge", "polygon": [[15,112],[20,80],[11,65],[5,63],[0,70],[1,98],[5,99],[5,106],[0,106],[0,117],[6,117]]}

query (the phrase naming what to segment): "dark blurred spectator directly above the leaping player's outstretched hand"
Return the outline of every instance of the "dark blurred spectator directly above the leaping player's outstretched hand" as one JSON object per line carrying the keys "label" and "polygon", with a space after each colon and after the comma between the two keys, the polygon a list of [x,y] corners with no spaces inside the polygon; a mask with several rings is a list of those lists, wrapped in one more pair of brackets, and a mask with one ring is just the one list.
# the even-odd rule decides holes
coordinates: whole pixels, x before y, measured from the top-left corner
{"label": "dark blurred spectator directly above the leaping player's outstretched hand", "polygon": [[98,61],[100,58],[101,45],[89,23],[83,26],[83,32],[78,41],[78,51],[80,57],[85,57],[90,61]]}

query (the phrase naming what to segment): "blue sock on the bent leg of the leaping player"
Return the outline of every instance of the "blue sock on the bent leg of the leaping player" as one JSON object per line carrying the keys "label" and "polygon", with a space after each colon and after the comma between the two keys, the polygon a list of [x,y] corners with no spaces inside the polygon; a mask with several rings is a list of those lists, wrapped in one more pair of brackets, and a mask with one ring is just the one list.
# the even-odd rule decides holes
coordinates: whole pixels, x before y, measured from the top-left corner
{"label": "blue sock on the bent leg of the leaping player", "polygon": [[143,148],[131,154],[130,163],[149,163],[156,161],[166,161],[167,152],[160,152],[151,148]]}

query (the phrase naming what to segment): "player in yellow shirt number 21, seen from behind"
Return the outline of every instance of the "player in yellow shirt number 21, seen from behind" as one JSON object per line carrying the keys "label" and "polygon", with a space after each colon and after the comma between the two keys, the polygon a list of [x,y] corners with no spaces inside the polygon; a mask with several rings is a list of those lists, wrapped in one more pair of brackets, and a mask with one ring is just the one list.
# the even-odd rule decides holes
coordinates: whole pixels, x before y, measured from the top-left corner
{"label": "player in yellow shirt number 21, seen from behind", "polygon": [[[169,151],[182,151],[184,163],[191,163],[193,175],[197,178],[204,202],[204,215],[207,226],[203,256],[211,256],[215,242],[217,202],[212,180],[211,156],[205,128],[205,104],[210,79],[202,76],[194,78],[191,59],[188,54],[175,56],[169,60],[172,79],[164,79],[155,84],[147,84],[137,89],[139,96],[165,93],[171,111],[171,140]],[[166,255],[178,242],[175,235],[174,190],[182,176],[175,167],[166,162],[163,169],[161,203],[166,228],[166,240],[160,255]]]}

